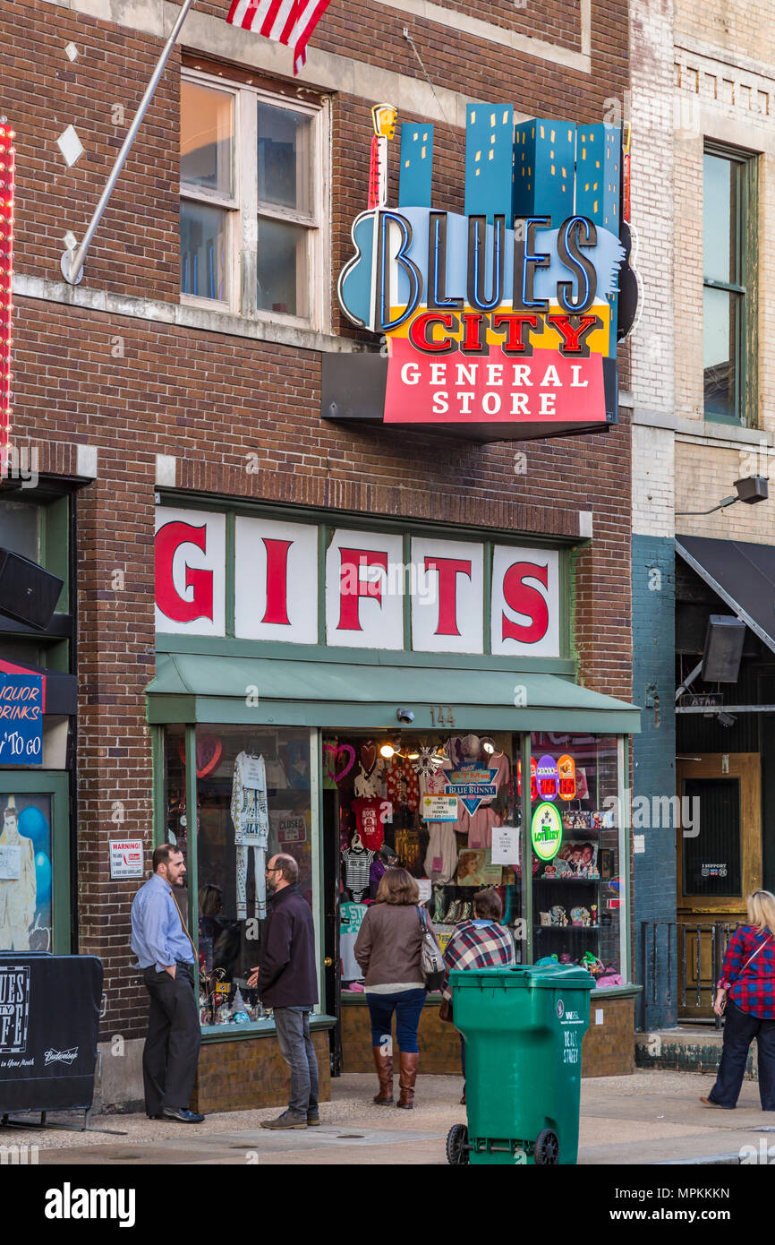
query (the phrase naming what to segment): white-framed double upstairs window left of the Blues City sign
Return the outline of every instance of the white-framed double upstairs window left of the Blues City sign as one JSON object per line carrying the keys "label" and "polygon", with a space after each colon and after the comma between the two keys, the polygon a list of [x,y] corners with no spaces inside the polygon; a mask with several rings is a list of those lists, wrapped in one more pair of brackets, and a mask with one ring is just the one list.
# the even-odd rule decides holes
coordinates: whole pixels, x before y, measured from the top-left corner
{"label": "white-framed double upstairs window left of the Blues City sign", "polygon": [[322,106],[190,71],[180,86],[180,298],[322,329]]}

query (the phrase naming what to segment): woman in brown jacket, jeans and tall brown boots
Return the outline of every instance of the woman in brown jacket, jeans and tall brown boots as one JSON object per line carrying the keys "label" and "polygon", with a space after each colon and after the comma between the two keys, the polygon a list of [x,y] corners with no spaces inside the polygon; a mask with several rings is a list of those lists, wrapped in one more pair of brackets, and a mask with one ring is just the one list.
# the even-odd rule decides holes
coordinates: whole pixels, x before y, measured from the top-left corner
{"label": "woman in brown jacket, jeans and tall brown boots", "polygon": [[[355,945],[356,960],[366,976],[372,1051],[379,1078],[379,1093],[374,1102],[379,1107],[393,1102],[392,1028],[396,1012],[398,1106],[409,1111],[414,1106],[419,1059],[417,1028],[425,1002],[418,904],[419,890],[412,874],[406,869],[388,869],[379,881],[376,903],[363,918]],[[434,934],[427,914],[425,919],[429,931]]]}

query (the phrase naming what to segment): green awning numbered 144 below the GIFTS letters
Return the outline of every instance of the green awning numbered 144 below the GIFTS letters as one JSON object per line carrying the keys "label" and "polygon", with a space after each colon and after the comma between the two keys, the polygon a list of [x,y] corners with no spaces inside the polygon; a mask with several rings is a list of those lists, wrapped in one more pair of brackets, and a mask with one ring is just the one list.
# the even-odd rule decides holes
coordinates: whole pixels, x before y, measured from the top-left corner
{"label": "green awning numbered 144 below the GIFTS letters", "polygon": [[[430,708],[449,711],[459,731],[571,731],[634,735],[641,711],[560,675],[495,669],[160,652],[148,685],[148,721],[396,730],[396,710],[432,727]],[[389,664],[394,659],[396,665]],[[459,659],[458,659],[459,660]],[[516,706],[515,706],[516,700]],[[437,718],[438,723],[438,718]],[[450,723],[452,725],[452,723]]]}

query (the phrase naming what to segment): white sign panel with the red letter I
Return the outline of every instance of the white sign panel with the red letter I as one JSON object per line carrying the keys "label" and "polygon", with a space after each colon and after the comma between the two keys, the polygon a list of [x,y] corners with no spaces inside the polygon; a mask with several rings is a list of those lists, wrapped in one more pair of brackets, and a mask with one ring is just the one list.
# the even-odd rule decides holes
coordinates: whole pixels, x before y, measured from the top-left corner
{"label": "white sign panel with the red letter I", "polygon": [[234,560],[235,634],[317,644],[317,528],[238,515]]}

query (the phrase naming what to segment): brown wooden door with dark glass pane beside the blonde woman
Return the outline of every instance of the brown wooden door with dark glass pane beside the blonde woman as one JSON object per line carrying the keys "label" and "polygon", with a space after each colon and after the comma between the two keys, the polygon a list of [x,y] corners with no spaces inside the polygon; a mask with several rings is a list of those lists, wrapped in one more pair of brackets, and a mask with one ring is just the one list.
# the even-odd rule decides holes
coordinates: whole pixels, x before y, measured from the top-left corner
{"label": "brown wooden door with dark glass pane beside the blonde woman", "polygon": [[724,946],[761,885],[761,761],[707,753],[677,763],[678,1015],[710,1020]]}

